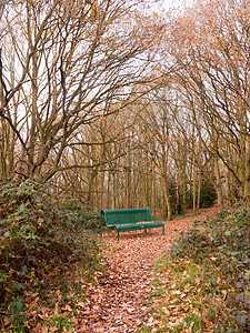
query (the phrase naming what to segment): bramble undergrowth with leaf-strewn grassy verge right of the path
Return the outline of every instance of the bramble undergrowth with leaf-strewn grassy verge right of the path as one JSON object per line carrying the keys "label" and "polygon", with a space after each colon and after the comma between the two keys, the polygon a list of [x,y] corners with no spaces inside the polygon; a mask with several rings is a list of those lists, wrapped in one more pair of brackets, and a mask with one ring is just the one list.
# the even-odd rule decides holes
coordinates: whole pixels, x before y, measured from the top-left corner
{"label": "bramble undergrowth with leaf-strewn grassy verge right of the path", "polygon": [[250,332],[249,253],[249,203],[196,221],[157,263],[138,332]]}

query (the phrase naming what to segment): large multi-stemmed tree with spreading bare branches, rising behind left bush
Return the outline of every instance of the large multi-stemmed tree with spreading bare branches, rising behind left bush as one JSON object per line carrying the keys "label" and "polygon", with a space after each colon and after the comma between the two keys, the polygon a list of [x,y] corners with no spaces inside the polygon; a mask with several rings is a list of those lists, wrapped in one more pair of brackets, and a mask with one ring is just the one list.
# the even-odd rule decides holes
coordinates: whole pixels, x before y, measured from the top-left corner
{"label": "large multi-stemmed tree with spreading bare branches, rising behind left bush", "polygon": [[161,26],[142,4],[27,0],[6,13],[2,41],[12,47],[16,69],[3,47],[0,117],[19,140],[24,176],[53,176],[81,127],[119,111],[107,104],[124,108],[137,98],[134,84],[154,79],[150,48]]}

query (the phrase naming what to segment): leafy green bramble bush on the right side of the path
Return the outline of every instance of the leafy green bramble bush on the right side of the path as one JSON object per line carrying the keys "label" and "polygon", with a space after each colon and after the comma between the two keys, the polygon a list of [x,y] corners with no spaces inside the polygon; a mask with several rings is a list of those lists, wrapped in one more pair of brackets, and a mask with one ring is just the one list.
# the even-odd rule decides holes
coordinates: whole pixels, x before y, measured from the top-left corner
{"label": "leafy green bramble bush on the right side of the path", "polygon": [[[224,300],[219,303],[217,322],[222,331],[248,332],[250,327],[250,205],[238,203],[232,210],[223,210],[204,222],[196,221],[196,228],[183,232],[171,246],[170,258],[173,266],[184,259],[202,268],[203,285],[208,299],[217,300],[223,292]],[[216,301],[214,301],[216,302]],[[208,310],[208,314],[211,309]],[[210,315],[212,315],[210,313]],[[234,330],[234,329],[233,329]],[[247,330],[247,331],[244,331]]]}

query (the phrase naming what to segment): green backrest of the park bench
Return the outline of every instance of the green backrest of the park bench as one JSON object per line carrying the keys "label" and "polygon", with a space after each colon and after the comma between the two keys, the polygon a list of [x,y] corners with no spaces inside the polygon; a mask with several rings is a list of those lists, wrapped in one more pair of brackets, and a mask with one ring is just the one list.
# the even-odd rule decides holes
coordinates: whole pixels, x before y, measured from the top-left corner
{"label": "green backrest of the park bench", "polygon": [[114,226],[120,224],[130,224],[137,222],[151,222],[152,215],[149,208],[126,209],[126,210],[102,210],[106,216],[106,224]]}

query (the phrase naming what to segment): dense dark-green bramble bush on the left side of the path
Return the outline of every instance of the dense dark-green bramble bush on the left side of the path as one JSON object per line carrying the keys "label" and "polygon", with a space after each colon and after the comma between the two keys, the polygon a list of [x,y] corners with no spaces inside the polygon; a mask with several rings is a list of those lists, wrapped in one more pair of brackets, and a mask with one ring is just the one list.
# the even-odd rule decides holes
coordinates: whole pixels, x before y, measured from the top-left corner
{"label": "dense dark-green bramble bush on the left side of the path", "polygon": [[60,275],[78,262],[88,271],[98,262],[97,241],[84,228],[93,215],[56,203],[50,190],[33,180],[0,184],[0,311],[13,320],[26,310],[24,293],[52,284],[49,272]]}

